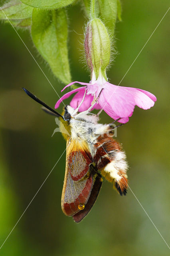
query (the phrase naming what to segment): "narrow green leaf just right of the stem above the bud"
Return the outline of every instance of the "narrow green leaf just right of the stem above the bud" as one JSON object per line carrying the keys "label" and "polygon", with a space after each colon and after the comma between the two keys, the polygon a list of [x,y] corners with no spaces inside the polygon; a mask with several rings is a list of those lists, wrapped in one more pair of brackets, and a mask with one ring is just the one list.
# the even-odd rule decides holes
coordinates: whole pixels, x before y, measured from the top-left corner
{"label": "narrow green leaf just right of the stem above the bud", "polygon": [[114,34],[117,19],[117,0],[98,0],[101,18],[105,22],[111,35]]}

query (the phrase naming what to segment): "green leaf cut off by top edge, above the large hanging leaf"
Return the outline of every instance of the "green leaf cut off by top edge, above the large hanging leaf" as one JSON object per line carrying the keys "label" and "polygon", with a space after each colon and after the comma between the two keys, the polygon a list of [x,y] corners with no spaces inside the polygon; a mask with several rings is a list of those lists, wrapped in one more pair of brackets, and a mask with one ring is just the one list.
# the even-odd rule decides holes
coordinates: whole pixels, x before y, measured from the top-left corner
{"label": "green leaf cut off by top edge, above the large hanging leaf", "polygon": [[22,0],[24,4],[41,9],[57,9],[73,4],[75,0]]}

